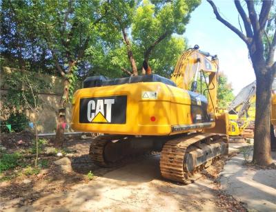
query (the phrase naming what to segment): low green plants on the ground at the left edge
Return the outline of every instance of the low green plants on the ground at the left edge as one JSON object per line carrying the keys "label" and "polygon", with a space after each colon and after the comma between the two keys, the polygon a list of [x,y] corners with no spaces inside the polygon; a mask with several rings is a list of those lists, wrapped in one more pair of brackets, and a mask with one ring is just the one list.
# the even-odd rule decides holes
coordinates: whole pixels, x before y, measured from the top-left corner
{"label": "low green plants on the ground at the left edge", "polygon": [[0,155],[0,173],[8,169],[14,169],[20,165],[19,160],[21,159],[21,154],[15,153],[3,153]]}

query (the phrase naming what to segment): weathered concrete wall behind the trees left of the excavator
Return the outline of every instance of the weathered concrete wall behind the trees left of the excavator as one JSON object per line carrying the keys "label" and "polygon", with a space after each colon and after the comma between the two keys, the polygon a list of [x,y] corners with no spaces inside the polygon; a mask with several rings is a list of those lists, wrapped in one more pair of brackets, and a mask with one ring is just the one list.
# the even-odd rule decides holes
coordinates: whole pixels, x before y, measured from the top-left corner
{"label": "weathered concrete wall behind the trees left of the excavator", "polygon": [[[10,72],[17,70],[11,70],[8,67],[3,67],[1,69],[0,75],[0,110],[1,110],[1,120],[6,120],[8,116],[7,112],[3,110],[3,103],[5,102],[5,94],[8,92],[8,85],[5,82],[4,78]],[[22,74],[28,74],[28,72],[22,72]],[[63,91],[63,83],[61,78],[57,76],[50,76],[45,74],[37,74],[38,78],[43,78],[43,81],[48,82],[52,85],[51,89],[45,89],[39,92],[39,98],[42,102],[41,109],[39,109],[39,133],[51,133],[55,132],[56,123],[57,123],[57,109],[59,107],[59,100],[61,99],[61,94]],[[68,108],[66,109],[66,121],[70,125],[72,105],[68,103]],[[30,113],[28,110],[24,111],[26,116],[30,118],[32,122],[34,120],[34,114]],[[72,129],[66,129],[66,131],[72,131]]]}

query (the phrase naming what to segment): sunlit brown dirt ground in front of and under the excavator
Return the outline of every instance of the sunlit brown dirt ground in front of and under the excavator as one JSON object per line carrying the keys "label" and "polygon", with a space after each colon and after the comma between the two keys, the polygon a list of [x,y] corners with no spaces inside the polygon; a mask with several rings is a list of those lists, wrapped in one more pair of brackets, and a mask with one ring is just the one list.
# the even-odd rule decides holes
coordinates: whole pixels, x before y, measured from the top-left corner
{"label": "sunlit brown dirt ground in front of and under the excavator", "polygon": [[89,138],[69,139],[66,148],[74,153],[68,164],[55,165],[60,158],[50,156],[50,167],[39,174],[1,182],[1,211],[246,211],[221,190],[218,174],[228,158],[182,185],[161,178],[159,154],[107,169],[92,163],[89,145]]}

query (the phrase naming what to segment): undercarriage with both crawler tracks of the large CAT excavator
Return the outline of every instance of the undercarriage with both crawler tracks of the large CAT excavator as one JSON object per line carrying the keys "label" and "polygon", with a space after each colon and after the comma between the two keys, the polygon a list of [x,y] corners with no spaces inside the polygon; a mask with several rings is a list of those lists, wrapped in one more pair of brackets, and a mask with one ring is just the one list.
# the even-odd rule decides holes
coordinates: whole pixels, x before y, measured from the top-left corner
{"label": "undercarriage with both crawler tracks of the large CAT excavator", "polygon": [[192,133],[173,137],[98,136],[90,145],[90,156],[97,165],[112,167],[131,156],[161,151],[161,176],[188,184],[193,182],[197,171],[228,154],[228,138],[224,134]]}

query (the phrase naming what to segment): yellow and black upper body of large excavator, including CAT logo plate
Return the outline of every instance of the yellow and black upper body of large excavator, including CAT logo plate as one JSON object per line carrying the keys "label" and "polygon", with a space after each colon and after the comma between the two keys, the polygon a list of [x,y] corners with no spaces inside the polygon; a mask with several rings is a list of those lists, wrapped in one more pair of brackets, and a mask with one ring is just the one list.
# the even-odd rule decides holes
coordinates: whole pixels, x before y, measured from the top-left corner
{"label": "yellow and black upper body of large excavator, including CAT logo plate", "polygon": [[204,96],[158,82],[79,89],[72,105],[76,131],[167,136],[215,125]]}

